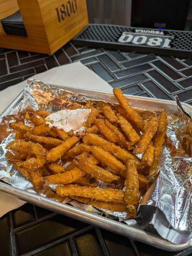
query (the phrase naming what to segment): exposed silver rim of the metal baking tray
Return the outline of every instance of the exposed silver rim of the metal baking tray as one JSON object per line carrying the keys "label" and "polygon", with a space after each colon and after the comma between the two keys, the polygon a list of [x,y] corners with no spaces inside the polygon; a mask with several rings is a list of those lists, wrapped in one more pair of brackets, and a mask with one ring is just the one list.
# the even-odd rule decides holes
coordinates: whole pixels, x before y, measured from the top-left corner
{"label": "exposed silver rim of the metal baking tray", "polygon": [[[56,86],[50,84],[51,86]],[[70,90],[75,93],[83,94],[89,97],[90,99],[97,99],[97,100],[108,100],[111,102],[116,102],[113,93],[106,93],[106,92],[98,92],[98,91],[91,91],[91,90],[80,90],[77,88],[68,88],[66,86],[57,86],[63,88],[65,90]],[[12,104],[6,108],[3,113],[1,113],[0,118],[4,115],[8,115],[11,109],[16,106],[20,100],[22,100],[22,94],[20,93],[15,100],[13,100]],[[132,97],[125,95],[127,99],[131,102],[132,106],[138,108],[145,108],[151,110],[159,110],[159,109],[166,109],[169,112],[177,112],[177,104],[171,100],[159,100],[159,99],[149,99],[144,97]],[[188,104],[182,104],[184,109],[192,115],[192,107]],[[160,236],[156,236],[150,232],[145,232],[140,228],[133,227],[134,223],[130,221],[129,225],[120,223],[115,220],[110,220],[109,218],[100,216],[99,214],[95,214],[92,212],[87,212],[81,209],[77,209],[73,206],[62,204],[60,202],[56,202],[50,198],[45,198],[44,196],[35,195],[33,193],[29,193],[26,191],[22,191],[18,188],[13,188],[9,184],[5,184],[0,182],[0,190],[10,195],[15,195],[21,200],[25,200],[26,202],[30,202],[32,204],[38,205],[40,207],[44,207],[46,209],[56,211],[60,214],[64,214],[70,216],[72,218],[76,218],[77,220],[85,221],[87,223],[97,225],[98,227],[105,228],[110,230],[111,232],[116,232],[123,236],[131,237],[132,239],[141,241],[143,243],[150,244],[151,246],[155,246],[157,248],[161,248],[162,250],[167,251],[180,251],[188,248],[190,246],[189,243],[183,244],[172,244]]]}

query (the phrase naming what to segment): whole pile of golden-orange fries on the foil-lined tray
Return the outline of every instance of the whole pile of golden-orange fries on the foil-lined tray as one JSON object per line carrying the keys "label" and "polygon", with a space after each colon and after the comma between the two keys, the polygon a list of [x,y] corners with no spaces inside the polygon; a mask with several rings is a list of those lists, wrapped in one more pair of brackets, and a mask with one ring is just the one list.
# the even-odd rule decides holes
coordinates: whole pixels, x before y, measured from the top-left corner
{"label": "whole pile of golden-orange fries on the foil-lined tray", "polygon": [[25,111],[10,122],[15,140],[6,157],[35,188],[56,184],[60,196],[133,218],[157,172],[166,111],[134,109],[119,88],[113,93],[118,104],[71,105],[91,110],[83,135],[47,125],[48,111]]}

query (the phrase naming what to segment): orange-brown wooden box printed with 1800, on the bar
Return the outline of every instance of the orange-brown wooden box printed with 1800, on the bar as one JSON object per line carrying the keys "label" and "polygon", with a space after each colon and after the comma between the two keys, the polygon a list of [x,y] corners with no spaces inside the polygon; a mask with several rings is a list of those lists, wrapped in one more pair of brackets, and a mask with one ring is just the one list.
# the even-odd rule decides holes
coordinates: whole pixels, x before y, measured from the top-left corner
{"label": "orange-brown wooden box printed with 1800, on the bar", "polygon": [[0,47],[52,54],[88,24],[86,0],[0,0],[0,19],[20,10],[28,36],[6,35]]}

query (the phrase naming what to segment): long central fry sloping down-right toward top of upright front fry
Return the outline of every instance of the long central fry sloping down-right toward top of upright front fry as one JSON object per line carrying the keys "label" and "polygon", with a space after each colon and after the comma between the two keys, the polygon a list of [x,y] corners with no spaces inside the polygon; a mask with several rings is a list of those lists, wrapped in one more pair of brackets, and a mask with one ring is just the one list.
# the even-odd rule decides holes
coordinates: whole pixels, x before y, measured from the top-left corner
{"label": "long central fry sloping down-right toward top of upright front fry", "polygon": [[114,143],[104,140],[97,134],[85,134],[83,137],[83,142],[88,145],[95,145],[97,147],[101,147],[102,149],[111,153],[117,159],[123,161],[124,164],[127,164],[127,161],[129,159],[136,159],[136,157],[132,156],[132,154],[127,152],[127,150],[118,147]]}

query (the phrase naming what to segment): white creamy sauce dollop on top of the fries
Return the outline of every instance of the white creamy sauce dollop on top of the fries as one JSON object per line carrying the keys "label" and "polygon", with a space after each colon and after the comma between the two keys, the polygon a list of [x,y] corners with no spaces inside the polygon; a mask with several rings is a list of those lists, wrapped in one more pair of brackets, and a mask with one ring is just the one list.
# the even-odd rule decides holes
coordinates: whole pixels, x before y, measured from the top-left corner
{"label": "white creamy sauce dollop on top of the fries", "polygon": [[79,134],[79,132],[83,133],[83,124],[90,112],[91,109],[63,109],[47,116],[45,123],[49,127],[57,127],[66,132],[74,131],[75,134]]}

